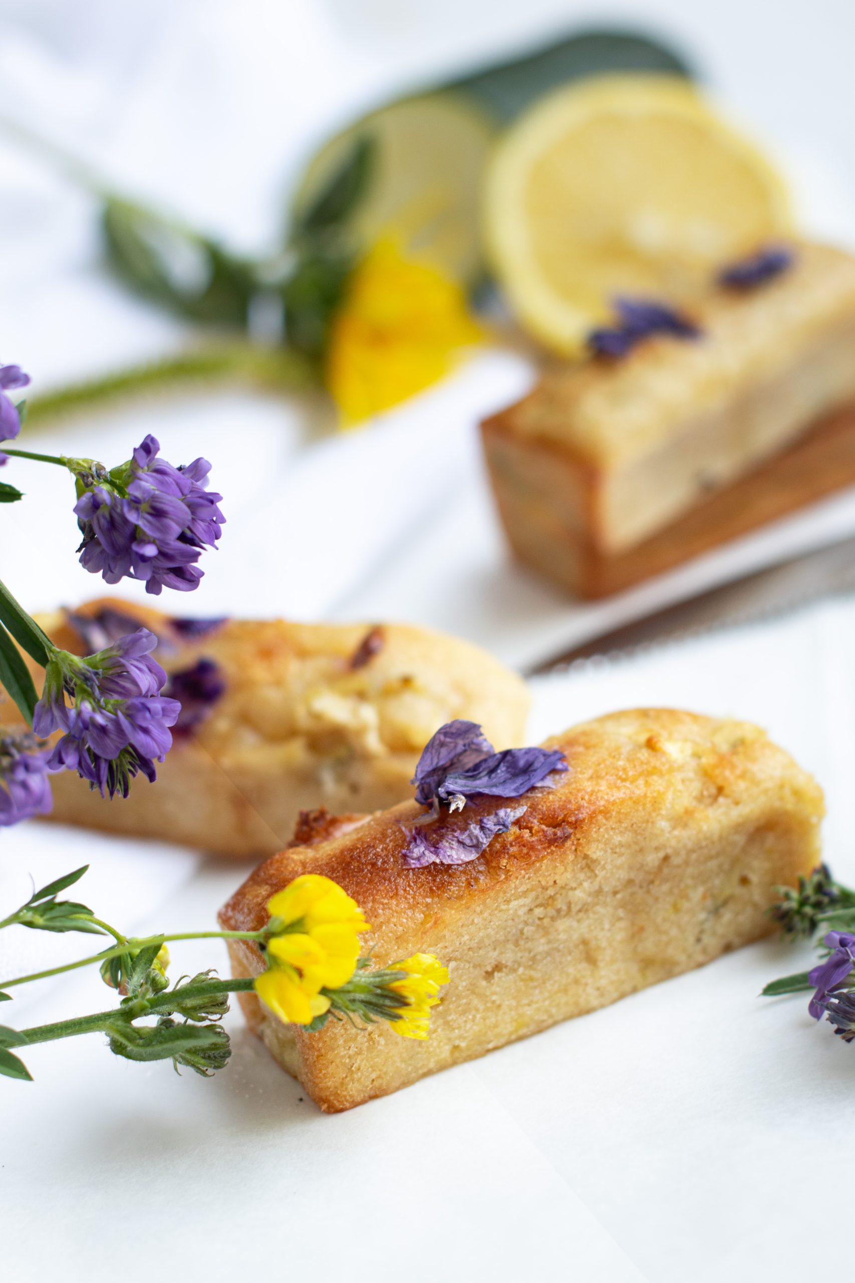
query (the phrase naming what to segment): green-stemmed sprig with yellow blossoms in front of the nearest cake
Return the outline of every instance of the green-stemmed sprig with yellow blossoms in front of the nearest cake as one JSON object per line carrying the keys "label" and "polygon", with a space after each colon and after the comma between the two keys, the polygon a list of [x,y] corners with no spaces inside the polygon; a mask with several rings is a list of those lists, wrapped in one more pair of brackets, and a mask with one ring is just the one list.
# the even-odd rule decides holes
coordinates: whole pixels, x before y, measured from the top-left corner
{"label": "green-stemmed sprig with yellow blossoms in front of the nearest cake", "polygon": [[[231,1056],[228,1034],[220,1024],[228,1012],[228,997],[251,990],[279,1020],[303,1025],[309,1033],[317,1033],[332,1016],[347,1019],[358,1029],[386,1021],[404,1037],[428,1035],[429,1011],[440,1001],[447,971],[431,953],[374,967],[369,956],[359,953],[359,935],[368,930],[361,910],[328,878],[310,874],[295,879],[272,897],[270,916],[256,931],[183,931],[133,938],[96,917],[86,905],[58,898],[83,876],[86,867],[35,892],[0,921],[0,929],[85,931],[109,935],[114,943],[90,957],[0,981],[0,1002],[12,1001],[10,990],[18,985],[86,966],[99,967],[119,1002],[106,1011],[50,1025],[0,1026],[0,1075],[29,1080],[22,1060],[26,1048],[100,1033],[106,1037],[109,1049],[124,1060],[170,1060],[176,1070],[187,1067],[209,1076],[223,1069]],[[264,958],[264,970],[254,978],[226,980],[206,970],[170,985],[168,946],[194,939],[255,944]]]}

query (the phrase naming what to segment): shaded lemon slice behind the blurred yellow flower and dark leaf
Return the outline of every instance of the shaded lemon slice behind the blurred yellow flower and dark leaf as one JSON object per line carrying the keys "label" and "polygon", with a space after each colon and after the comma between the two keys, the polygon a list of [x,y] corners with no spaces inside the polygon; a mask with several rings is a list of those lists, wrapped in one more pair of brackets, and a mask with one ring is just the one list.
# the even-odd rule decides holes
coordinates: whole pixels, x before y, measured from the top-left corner
{"label": "shaded lemon slice behind the blurred yellow flower and dark leaf", "polygon": [[387,235],[404,253],[455,281],[482,268],[481,189],[495,126],[456,94],[392,103],[336,135],[309,162],[295,198],[299,213],[358,139],[374,144],[368,191],[347,230],[367,251]]}

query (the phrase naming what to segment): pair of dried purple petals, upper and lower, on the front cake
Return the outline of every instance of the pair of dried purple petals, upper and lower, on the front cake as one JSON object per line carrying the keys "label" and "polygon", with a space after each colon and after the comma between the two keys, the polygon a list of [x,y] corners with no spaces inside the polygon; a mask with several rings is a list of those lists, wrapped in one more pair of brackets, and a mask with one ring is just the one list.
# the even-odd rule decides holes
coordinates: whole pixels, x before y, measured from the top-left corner
{"label": "pair of dried purple petals, upper and lower, on the front cake", "polygon": [[[550,748],[506,748],[495,753],[481,726],[451,721],[428,742],[411,783],[415,801],[432,811],[408,831],[404,863],[464,865],[476,860],[499,833],[506,833],[526,807],[505,807],[469,824],[452,819],[478,797],[518,798],[535,785],[550,786],[547,777],[567,771],[564,754]],[[441,808],[446,807],[445,815]]]}

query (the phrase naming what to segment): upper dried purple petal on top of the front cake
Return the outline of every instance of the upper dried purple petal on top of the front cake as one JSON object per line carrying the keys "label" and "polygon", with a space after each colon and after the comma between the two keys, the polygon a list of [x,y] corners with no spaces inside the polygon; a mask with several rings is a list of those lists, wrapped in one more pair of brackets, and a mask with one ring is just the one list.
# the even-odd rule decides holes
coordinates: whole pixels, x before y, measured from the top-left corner
{"label": "upper dried purple petal on top of the front cake", "polygon": [[517,798],[552,771],[565,771],[564,754],[552,748],[506,748],[494,753],[476,722],[451,721],[427,743],[415,775],[415,801],[445,802],[454,811],[478,794]]}

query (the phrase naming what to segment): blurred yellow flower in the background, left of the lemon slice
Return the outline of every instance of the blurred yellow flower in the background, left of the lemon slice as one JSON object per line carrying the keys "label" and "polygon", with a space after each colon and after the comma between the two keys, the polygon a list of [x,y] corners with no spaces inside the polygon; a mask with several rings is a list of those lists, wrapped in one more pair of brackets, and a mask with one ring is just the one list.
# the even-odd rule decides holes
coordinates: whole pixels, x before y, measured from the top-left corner
{"label": "blurred yellow flower in the background, left of the lemon slice", "polygon": [[406,258],[397,237],[378,240],[355,268],[329,335],[327,386],[342,426],[437,382],[479,339],[455,281]]}

